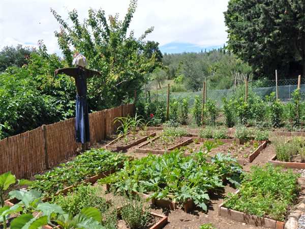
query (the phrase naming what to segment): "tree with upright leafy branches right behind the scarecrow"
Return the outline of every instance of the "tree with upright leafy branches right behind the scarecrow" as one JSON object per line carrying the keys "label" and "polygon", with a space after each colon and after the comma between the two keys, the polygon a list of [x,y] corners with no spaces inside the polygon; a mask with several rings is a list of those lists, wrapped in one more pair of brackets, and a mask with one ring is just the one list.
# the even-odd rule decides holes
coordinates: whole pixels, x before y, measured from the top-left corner
{"label": "tree with upright leafy branches right behind the scarecrow", "polygon": [[123,21],[118,14],[107,20],[102,9],[89,9],[88,18],[81,23],[73,10],[69,13],[72,26],[51,9],[60,24],[55,36],[68,64],[72,63],[73,46],[86,56],[88,68],[102,73],[102,77],[88,81],[89,108],[115,106],[132,98],[135,90],[141,90],[147,73],[161,65],[158,43],[144,41],[153,27],[140,38],[135,38],[133,31],[127,34],[136,6],[137,1],[131,0]]}

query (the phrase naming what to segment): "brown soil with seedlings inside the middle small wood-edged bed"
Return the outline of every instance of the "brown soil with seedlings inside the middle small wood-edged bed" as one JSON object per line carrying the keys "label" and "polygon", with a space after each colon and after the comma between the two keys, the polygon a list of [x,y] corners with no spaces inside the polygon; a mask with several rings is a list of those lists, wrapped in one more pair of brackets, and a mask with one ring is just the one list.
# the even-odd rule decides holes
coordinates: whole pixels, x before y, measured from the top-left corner
{"label": "brown soil with seedlings inside the middle small wood-edged bed", "polygon": [[149,142],[147,145],[145,145],[141,148],[150,149],[150,150],[167,150],[184,141],[186,141],[186,138],[184,138],[184,137],[160,136],[159,138]]}

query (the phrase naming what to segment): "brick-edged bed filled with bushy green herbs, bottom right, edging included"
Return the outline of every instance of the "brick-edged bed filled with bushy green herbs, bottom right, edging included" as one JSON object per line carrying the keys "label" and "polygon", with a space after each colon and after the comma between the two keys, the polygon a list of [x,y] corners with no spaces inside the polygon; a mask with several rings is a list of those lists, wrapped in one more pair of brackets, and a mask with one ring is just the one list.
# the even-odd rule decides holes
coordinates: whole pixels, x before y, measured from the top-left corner
{"label": "brick-edged bed filled with bushy green herbs, bottom right, edging included", "polygon": [[287,211],[298,197],[298,175],[271,164],[253,166],[240,189],[219,206],[219,215],[274,229],[283,229]]}

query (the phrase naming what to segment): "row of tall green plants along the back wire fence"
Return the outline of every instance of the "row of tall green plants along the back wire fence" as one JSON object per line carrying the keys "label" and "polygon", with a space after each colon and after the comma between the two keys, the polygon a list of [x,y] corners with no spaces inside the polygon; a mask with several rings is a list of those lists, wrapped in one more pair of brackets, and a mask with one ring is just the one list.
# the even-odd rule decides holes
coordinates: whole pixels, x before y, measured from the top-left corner
{"label": "row of tall green plants along the back wire fence", "polygon": [[[166,122],[166,101],[156,99],[153,101],[138,100],[137,113],[150,125],[158,126]],[[202,123],[202,114],[204,123]],[[223,117],[221,116],[223,115]],[[276,99],[271,93],[264,99],[249,89],[248,102],[245,102],[244,87],[237,88],[231,98],[224,98],[222,107],[216,101],[207,99],[202,112],[202,98],[195,97],[193,107],[189,107],[189,98],[181,101],[170,100],[168,125],[236,125],[257,126],[260,128],[281,128],[297,131],[305,122],[305,102],[301,101],[301,92],[295,90],[288,103]]]}

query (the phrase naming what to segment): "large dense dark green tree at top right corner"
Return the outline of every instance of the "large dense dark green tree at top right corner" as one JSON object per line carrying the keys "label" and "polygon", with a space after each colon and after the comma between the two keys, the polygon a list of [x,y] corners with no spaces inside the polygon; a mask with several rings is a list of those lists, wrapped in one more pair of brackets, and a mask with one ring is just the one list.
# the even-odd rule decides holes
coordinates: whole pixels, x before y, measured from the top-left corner
{"label": "large dense dark green tree at top right corner", "polygon": [[224,14],[229,49],[257,75],[285,72],[293,63],[299,63],[305,75],[303,0],[230,0]]}

